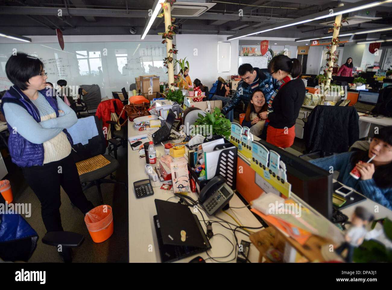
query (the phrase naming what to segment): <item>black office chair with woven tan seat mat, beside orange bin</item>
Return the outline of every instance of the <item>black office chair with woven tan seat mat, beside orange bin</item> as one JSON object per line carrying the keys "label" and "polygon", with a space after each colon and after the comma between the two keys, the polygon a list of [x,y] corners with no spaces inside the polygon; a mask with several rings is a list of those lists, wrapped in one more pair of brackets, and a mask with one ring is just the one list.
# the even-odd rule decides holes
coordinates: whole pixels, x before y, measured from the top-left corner
{"label": "black office chair with woven tan seat mat, beside orange bin", "polygon": [[[128,187],[125,182],[105,179],[108,175],[110,175],[111,179],[114,179],[113,172],[118,170],[120,163],[118,163],[115,158],[105,154],[106,140],[103,135],[102,126],[100,125],[97,116],[94,116],[94,120],[95,126],[98,129],[98,136],[89,139],[88,144],[74,144],[73,149],[76,152],[72,151],[72,154],[74,161],[76,162],[76,167],[78,168],[83,191],[96,185],[98,189],[98,197],[101,204],[103,204],[100,187],[102,183],[123,184],[127,190],[127,194]],[[90,183],[87,184],[87,182]]]}

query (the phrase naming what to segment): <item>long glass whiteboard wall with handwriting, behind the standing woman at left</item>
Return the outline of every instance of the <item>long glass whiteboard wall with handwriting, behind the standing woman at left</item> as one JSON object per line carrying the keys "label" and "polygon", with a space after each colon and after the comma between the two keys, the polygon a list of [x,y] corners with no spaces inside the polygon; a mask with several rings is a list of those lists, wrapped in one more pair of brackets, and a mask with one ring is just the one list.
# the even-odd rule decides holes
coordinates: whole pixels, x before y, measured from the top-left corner
{"label": "long glass whiteboard wall with handwriting, behind the standing woman at left", "polygon": [[166,46],[160,42],[71,42],[0,44],[0,91],[13,84],[5,74],[5,64],[14,53],[24,52],[40,58],[47,72],[47,82],[60,79],[67,86],[98,84],[101,97],[112,97],[112,91],[121,91],[135,83],[140,75],[158,75],[167,81],[163,67]]}

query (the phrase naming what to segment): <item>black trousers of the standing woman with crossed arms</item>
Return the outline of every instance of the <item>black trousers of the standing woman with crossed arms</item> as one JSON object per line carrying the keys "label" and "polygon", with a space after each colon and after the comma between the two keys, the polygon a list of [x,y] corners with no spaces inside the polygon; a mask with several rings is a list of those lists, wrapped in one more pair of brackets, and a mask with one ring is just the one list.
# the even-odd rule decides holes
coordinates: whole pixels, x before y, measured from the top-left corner
{"label": "black trousers of the standing woman with crossed arms", "polygon": [[41,202],[41,215],[48,232],[62,231],[60,218],[60,185],[71,202],[83,213],[94,205],[85,197],[76,164],[71,157],[44,164],[22,168],[27,184]]}

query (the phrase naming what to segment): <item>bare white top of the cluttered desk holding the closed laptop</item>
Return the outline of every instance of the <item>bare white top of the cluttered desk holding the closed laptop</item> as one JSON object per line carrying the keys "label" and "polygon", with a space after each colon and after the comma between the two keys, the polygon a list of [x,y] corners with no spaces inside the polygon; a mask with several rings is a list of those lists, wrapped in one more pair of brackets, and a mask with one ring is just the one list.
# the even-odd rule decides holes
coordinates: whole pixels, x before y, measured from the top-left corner
{"label": "bare white top of the cluttered desk holding the closed laptop", "polygon": [[[133,127],[133,122],[128,123],[128,136],[138,135],[140,131]],[[160,153],[163,155],[163,146],[156,146],[157,155]],[[140,179],[147,179],[148,175],[144,170],[145,166],[145,158],[140,158],[138,154],[138,150],[132,151],[131,146],[128,142],[128,210],[129,210],[129,262],[130,263],[160,263],[160,254],[158,248],[158,241],[156,238],[155,227],[154,227],[154,219],[152,218],[156,215],[156,208],[154,199],[163,199],[167,200],[169,197],[171,198],[169,201],[177,202],[179,199],[174,197],[172,190],[161,190],[159,187],[154,188],[154,195],[143,197],[141,199],[136,199],[133,182],[138,181]],[[189,196],[192,199],[197,199],[196,193],[189,193]],[[230,200],[230,206],[232,207],[241,207],[245,206],[243,202],[234,194],[234,197]],[[253,213],[250,212],[247,208],[240,209],[229,209],[227,211],[231,215],[233,215],[239,223],[243,226],[250,227],[260,227],[262,226],[260,222],[254,217]],[[206,232],[206,227],[203,223],[203,219],[201,217],[200,212],[196,213],[199,220],[201,220],[201,226]],[[211,217],[207,215],[207,213],[203,212],[204,218],[208,220],[220,221],[216,217]],[[230,223],[236,224],[236,222],[229,217],[229,215],[220,212],[217,214],[218,217],[229,221]],[[220,221],[221,222],[221,221]],[[225,224],[222,222],[222,224]],[[225,224],[225,226],[228,226]],[[234,226],[231,226],[233,229]],[[221,233],[225,235],[233,244],[234,250],[229,257],[223,259],[217,259],[218,261],[228,261],[234,257],[234,255],[238,252],[238,248],[236,247],[236,241],[233,235],[233,232],[229,229],[223,228],[217,223],[212,224],[212,231],[214,232],[214,237],[210,239],[211,250],[208,250],[208,254],[211,257],[222,257],[228,255],[232,250],[233,246],[221,235],[216,235],[217,233]],[[257,232],[259,230],[253,230]],[[238,239],[238,243],[241,243],[241,240],[250,241],[249,237],[243,235],[239,232],[236,232],[236,236]],[[149,252],[149,245],[152,245],[152,252]],[[150,246],[151,248],[151,246]],[[205,252],[192,255],[191,257],[187,257],[185,259],[181,259],[178,262],[187,263],[191,261],[194,257],[200,255],[204,259],[207,259],[208,256]],[[258,262],[259,251],[251,244],[249,250],[249,260],[253,263]],[[206,260],[207,263],[215,262],[212,259]],[[236,259],[231,261],[232,263],[236,262]]]}

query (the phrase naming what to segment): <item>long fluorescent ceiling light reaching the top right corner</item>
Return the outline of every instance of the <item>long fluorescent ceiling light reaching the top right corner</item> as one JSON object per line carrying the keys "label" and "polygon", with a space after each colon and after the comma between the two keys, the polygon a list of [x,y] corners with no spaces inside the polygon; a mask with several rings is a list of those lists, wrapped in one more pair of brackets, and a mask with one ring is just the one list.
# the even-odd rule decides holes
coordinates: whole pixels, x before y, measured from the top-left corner
{"label": "long fluorescent ceiling light reaching the top right corner", "polygon": [[[289,26],[295,26],[298,24],[303,24],[303,23],[307,23],[307,22],[311,22],[314,20],[319,20],[319,19],[323,19],[323,18],[328,18],[328,17],[332,17],[332,16],[336,16],[339,14],[344,14],[344,13],[350,13],[353,11],[358,11],[358,10],[362,10],[362,9],[367,9],[370,7],[374,7],[374,6],[378,6],[378,5],[382,5],[382,4],[387,4],[392,2],[392,0],[381,0],[381,1],[374,1],[372,3],[368,3],[368,0],[363,0],[357,3],[353,3],[347,6],[340,6],[340,7],[336,7],[334,8],[334,13],[329,14],[329,10],[328,11],[322,11],[319,13],[314,13],[312,15],[308,15],[308,16],[303,16],[303,17],[299,17],[297,19],[292,19],[286,22],[282,22],[279,24],[274,24],[271,26],[267,26],[267,27],[263,27],[263,28],[267,28],[265,30],[256,30],[256,31],[249,31],[249,33],[247,32],[243,32],[241,35],[238,36],[229,36],[227,38],[227,40],[233,40],[233,39],[237,39],[237,38],[241,38],[241,37],[245,37],[245,36],[251,36],[251,35],[255,35],[255,34],[259,34],[259,33],[264,33],[267,31],[271,31],[271,30],[275,30],[275,29],[281,29],[281,28],[285,28],[285,27],[289,27]],[[309,17],[309,18],[308,18]],[[308,19],[306,19],[308,18]],[[286,25],[281,25],[284,23],[288,23]],[[270,28],[268,28],[270,27]],[[328,37],[332,37],[332,36],[328,36]],[[326,37],[326,38],[328,38]]]}

